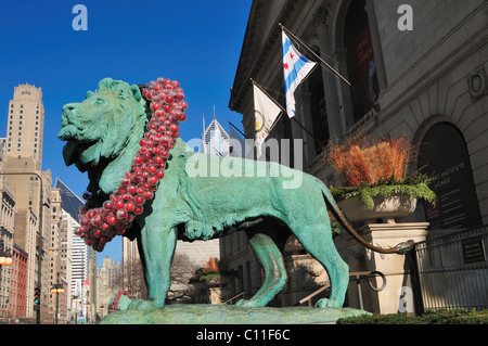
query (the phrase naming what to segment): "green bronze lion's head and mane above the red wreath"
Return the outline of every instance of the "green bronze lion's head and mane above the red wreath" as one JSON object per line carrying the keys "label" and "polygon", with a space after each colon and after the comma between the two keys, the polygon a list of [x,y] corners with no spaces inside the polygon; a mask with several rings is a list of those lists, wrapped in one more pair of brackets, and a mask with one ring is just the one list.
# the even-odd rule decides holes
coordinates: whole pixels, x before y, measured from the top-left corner
{"label": "green bronze lion's head and mane above the red wreath", "polygon": [[[102,79],[97,91],[87,92],[84,102],[63,106],[57,137],[67,141],[63,149],[66,165],[88,170],[89,191],[112,192],[120,177],[111,177],[107,170],[127,168],[133,153],[124,152],[136,148],[131,143],[141,139],[146,120],[145,101],[138,86]],[[120,162],[123,156],[127,156],[125,162]]]}

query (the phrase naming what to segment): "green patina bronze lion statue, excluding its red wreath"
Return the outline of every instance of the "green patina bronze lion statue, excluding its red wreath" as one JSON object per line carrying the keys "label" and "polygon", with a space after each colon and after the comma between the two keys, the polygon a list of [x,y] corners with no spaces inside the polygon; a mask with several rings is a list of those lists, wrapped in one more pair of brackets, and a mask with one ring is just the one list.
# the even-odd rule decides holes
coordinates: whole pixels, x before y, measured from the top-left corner
{"label": "green patina bronze lion statue, excluding its red wreath", "polygon": [[[92,201],[105,201],[130,170],[149,118],[139,88],[111,78],[101,80],[99,89],[88,92],[82,103],[63,107],[59,134],[67,141],[63,156],[67,165],[88,172]],[[246,232],[265,271],[256,295],[237,303],[249,308],[265,307],[283,289],[286,271],[282,252],[292,234],[329,273],[331,296],[320,299],[317,307],[343,306],[348,266],[332,241],[328,206],[358,241],[375,251],[398,253],[410,245],[381,249],[364,242],[346,223],[328,188],[310,175],[275,163],[194,153],[181,140],[170,154],[154,198],[124,234],[138,241],[149,299],[123,298],[117,316],[124,310],[128,316],[138,316],[133,310],[157,315],[154,309],[164,306],[170,286],[178,239],[210,240],[233,230]],[[134,323],[142,321],[136,319]]]}

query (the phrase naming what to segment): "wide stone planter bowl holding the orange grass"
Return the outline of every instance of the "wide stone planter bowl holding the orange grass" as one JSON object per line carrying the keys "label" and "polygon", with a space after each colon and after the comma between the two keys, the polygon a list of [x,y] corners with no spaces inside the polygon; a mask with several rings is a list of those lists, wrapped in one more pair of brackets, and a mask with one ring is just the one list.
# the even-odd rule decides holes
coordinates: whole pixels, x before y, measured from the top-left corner
{"label": "wide stone planter bowl holding the orange grass", "polygon": [[416,200],[410,200],[408,194],[399,193],[385,198],[383,195],[373,197],[374,208],[368,209],[358,196],[338,202],[349,220],[375,223],[382,219],[384,223],[395,223],[396,220],[411,215],[416,207]]}

